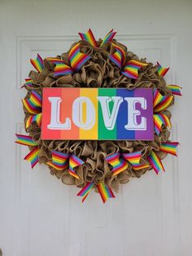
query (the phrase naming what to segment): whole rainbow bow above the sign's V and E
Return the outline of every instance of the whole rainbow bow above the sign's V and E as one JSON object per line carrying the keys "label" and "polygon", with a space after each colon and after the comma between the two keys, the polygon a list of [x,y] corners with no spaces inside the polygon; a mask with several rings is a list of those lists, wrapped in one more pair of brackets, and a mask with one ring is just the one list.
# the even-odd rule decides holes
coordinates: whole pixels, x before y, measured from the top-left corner
{"label": "whole rainbow bow above the sign's V and E", "polygon": [[119,68],[121,68],[121,73],[125,77],[137,79],[138,78],[138,69],[147,66],[147,63],[142,63],[138,60],[129,60],[127,64],[125,64],[126,55],[124,50],[113,43],[113,46],[116,52],[109,56],[109,59],[115,63]]}

